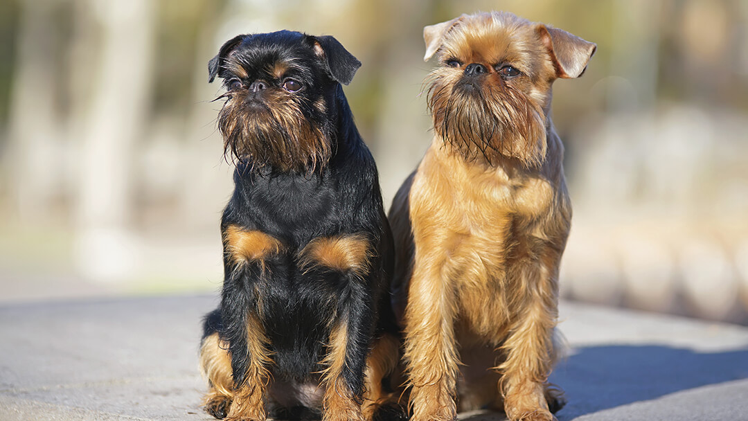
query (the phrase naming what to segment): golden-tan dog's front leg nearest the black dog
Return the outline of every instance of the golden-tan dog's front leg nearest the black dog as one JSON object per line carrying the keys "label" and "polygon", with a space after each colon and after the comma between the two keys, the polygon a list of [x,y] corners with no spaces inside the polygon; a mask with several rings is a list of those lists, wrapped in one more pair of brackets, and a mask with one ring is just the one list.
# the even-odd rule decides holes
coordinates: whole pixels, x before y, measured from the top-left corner
{"label": "golden-tan dog's front leg nearest the black dog", "polygon": [[[420,248],[438,250],[428,245]],[[405,308],[405,361],[414,421],[451,421],[457,417],[456,297],[442,276],[443,266],[443,259],[419,256],[416,251]]]}

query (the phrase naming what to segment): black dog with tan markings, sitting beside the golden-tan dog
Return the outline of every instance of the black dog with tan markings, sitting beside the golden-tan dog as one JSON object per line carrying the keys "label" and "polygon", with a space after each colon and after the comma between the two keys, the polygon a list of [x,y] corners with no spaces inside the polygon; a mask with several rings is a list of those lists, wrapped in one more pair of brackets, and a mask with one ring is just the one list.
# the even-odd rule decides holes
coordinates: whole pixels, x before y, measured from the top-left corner
{"label": "black dog with tan markings, sitting beside the golden-tan dog", "polygon": [[221,304],[200,347],[204,408],[218,419],[372,420],[390,408],[393,242],[341,86],[360,66],[334,37],[293,31],[239,35],[209,62],[236,164]]}

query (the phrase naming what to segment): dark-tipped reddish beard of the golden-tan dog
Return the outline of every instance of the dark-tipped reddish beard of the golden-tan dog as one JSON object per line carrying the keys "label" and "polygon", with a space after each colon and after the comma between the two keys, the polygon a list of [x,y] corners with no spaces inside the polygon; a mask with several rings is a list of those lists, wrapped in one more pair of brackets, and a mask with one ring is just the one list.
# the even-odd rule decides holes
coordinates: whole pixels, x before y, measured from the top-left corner
{"label": "dark-tipped reddish beard of the golden-tan dog", "polygon": [[434,129],[465,159],[485,159],[494,165],[501,157],[539,165],[546,150],[545,118],[525,93],[503,82],[487,83],[435,70],[429,79],[429,112]]}

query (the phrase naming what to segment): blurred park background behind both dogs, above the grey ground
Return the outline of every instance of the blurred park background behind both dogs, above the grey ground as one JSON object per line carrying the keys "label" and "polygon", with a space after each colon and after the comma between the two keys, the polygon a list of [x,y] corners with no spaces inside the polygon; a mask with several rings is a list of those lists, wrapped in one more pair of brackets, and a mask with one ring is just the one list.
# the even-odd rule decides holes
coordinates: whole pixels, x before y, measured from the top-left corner
{"label": "blurred park background behind both dogs, above the grey ground", "polygon": [[574,221],[562,296],[748,322],[748,1],[0,2],[0,304],[215,292],[232,189],[207,63],[334,34],[385,205],[431,135],[422,28],[476,10],[598,44],[555,84]]}

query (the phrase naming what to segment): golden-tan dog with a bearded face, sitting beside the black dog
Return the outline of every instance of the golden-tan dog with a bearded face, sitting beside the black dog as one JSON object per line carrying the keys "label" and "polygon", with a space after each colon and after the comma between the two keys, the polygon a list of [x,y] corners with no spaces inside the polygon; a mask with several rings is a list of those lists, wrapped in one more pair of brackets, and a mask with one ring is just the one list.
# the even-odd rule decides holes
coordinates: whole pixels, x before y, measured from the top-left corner
{"label": "golden-tan dog with a bearded face, sitting beside the black dog", "polygon": [[[571,222],[551,84],[594,43],[512,13],[423,30],[434,138],[393,200],[394,307],[414,421],[554,420],[558,272]],[[460,367],[462,366],[462,369]]]}

